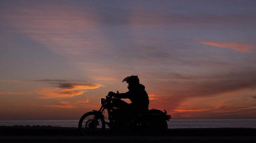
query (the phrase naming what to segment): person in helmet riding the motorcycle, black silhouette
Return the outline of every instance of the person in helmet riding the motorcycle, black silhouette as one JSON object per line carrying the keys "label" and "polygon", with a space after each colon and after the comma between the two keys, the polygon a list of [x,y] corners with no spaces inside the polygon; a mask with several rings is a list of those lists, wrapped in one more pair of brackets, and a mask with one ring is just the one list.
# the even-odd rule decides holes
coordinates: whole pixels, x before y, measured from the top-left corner
{"label": "person in helmet riding the motorcycle, black silhouette", "polygon": [[128,83],[129,91],[126,93],[114,93],[109,92],[109,95],[113,95],[116,98],[130,99],[132,103],[124,104],[122,110],[127,114],[143,113],[148,110],[149,99],[145,90],[145,86],[139,84],[138,76],[132,75],[123,79],[122,82]]}

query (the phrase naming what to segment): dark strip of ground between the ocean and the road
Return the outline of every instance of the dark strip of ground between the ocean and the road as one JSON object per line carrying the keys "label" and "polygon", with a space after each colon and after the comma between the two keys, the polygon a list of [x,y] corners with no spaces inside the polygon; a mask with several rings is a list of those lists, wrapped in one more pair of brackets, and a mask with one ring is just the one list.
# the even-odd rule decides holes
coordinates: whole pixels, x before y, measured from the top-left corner
{"label": "dark strip of ground between the ocean and the road", "polygon": [[[51,136],[51,135],[81,135],[78,128],[66,127],[12,127],[0,126],[1,135],[29,135],[29,136]],[[132,133],[112,132],[106,129],[108,135],[134,135]],[[140,133],[139,135],[143,135]],[[168,129],[165,136],[255,136],[255,128],[193,128],[193,129]]]}

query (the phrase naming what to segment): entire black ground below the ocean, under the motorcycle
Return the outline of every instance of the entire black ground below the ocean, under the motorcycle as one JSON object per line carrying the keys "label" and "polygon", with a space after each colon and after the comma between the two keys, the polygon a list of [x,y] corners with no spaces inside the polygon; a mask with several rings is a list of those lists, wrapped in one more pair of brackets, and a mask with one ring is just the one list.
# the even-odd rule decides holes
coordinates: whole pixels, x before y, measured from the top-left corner
{"label": "entire black ground below the ocean, under the motorcycle", "polygon": [[256,143],[255,128],[168,129],[163,136],[126,135],[106,129],[101,136],[83,136],[78,128],[0,126],[0,142],[26,143]]}

